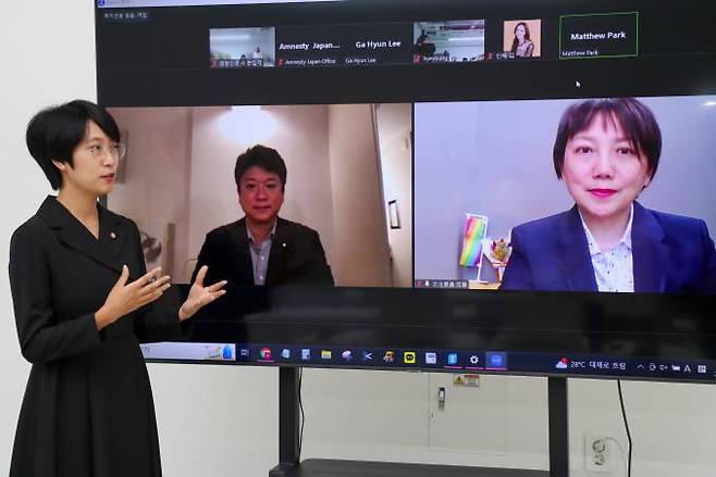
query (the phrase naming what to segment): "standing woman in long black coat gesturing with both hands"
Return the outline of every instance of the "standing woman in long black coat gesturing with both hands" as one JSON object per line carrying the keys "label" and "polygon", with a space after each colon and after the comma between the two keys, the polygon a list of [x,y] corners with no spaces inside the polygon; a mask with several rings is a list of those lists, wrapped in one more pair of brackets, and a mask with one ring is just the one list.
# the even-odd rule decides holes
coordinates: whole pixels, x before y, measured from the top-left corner
{"label": "standing woman in long black coat gesturing with both hands", "polygon": [[13,234],[10,285],[23,355],[33,363],[11,476],[160,476],[157,424],[139,342],[181,337],[224,293],[206,268],[173,310],[152,304],[169,276],[147,273],[139,233],[97,199],[124,155],[112,116],[87,101],[50,108],[27,147],[53,189]]}

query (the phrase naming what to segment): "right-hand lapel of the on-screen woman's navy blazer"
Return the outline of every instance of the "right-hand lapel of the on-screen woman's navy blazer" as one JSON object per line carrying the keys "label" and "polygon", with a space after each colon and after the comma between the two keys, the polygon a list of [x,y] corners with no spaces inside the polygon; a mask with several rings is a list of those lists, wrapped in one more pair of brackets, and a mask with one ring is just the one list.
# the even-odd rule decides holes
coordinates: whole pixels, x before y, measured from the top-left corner
{"label": "right-hand lapel of the on-screen woman's navy blazer", "polygon": [[631,223],[631,253],[634,267],[634,291],[661,293],[666,288],[667,248],[664,230],[654,215],[634,202]]}

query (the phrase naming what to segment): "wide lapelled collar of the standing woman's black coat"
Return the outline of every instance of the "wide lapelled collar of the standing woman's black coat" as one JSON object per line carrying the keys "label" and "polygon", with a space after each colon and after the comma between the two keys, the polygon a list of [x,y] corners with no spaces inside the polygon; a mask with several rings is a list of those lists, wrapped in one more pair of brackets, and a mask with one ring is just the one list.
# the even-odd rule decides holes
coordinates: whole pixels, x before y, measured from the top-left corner
{"label": "wide lapelled collar of the standing woman's black coat", "polygon": [[101,205],[99,209],[99,239],[64,208],[54,197],[48,197],[37,211],[65,246],[89,256],[116,273],[122,273],[122,249],[128,239],[129,230],[119,219]]}

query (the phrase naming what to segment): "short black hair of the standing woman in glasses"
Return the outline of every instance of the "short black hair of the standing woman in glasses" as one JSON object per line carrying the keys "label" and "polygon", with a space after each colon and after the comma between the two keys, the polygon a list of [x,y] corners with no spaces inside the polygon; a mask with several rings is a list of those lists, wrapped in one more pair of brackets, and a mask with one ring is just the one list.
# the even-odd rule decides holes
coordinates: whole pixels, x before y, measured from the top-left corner
{"label": "short black hair of the standing woman in glasses", "polygon": [[102,106],[76,99],[57,106],[46,108],[27,124],[25,142],[52,189],[62,185],[60,171],[52,160],[73,166],[72,153],[87,135],[87,123],[92,121],[113,141],[120,142],[120,128],[112,115]]}

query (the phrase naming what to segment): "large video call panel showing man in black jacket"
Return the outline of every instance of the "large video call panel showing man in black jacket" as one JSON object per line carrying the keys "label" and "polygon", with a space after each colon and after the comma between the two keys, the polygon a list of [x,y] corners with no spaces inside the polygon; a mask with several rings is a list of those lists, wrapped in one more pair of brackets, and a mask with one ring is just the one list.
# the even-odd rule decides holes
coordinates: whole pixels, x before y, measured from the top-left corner
{"label": "large video call panel showing man in black jacket", "polygon": [[[148,266],[174,283],[203,262],[209,281],[258,285],[242,221],[266,215],[270,201],[277,223],[264,285],[411,286],[411,104],[110,111],[131,152],[108,206],[135,219]],[[249,150],[269,155],[264,172],[282,158],[284,190],[258,176],[244,184],[250,168],[239,189],[237,158]],[[264,196],[258,208],[254,189]]]}

